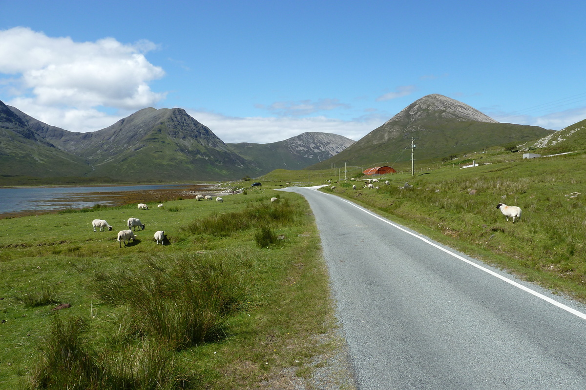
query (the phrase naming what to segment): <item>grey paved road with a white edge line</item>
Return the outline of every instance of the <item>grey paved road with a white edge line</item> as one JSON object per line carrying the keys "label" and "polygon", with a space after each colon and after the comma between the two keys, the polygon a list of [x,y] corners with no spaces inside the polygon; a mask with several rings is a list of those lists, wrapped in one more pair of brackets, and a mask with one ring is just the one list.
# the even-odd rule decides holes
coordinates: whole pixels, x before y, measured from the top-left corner
{"label": "grey paved road with a white edge line", "polygon": [[359,389],[586,389],[584,306],[345,199],[287,191],[315,214]]}

